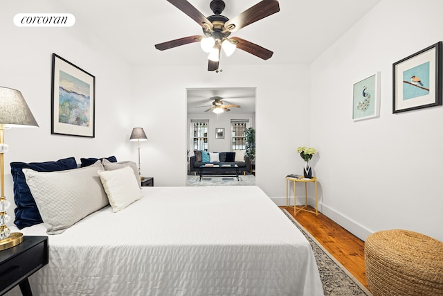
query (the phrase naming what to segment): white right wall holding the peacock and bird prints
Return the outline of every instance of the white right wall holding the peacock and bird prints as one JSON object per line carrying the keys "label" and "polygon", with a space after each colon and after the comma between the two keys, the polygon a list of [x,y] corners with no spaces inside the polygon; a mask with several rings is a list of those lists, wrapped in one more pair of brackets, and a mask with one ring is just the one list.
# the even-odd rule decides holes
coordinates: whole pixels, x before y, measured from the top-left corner
{"label": "white right wall holding the peacock and bird prints", "polygon": [[[443,2],[383,0],[311,65],[311,146],[323,213],[365,238],[443,240],[443,107],[392,114],[392,63],[443,40]],[[352,86],[381,71],[381,113],[352,121]]]}

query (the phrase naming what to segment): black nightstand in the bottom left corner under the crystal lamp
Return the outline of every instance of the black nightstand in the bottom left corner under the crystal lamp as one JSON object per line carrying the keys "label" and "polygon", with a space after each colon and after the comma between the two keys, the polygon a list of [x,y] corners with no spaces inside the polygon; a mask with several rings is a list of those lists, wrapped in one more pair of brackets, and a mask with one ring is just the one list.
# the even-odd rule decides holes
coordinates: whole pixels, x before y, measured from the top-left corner
{"label": "black nightstand in the bottom left corner under the crystal lamp", "polygon": [[0,295],[17,285],[24,296],[33,295],[28,277],[48,261],[48,236],[24,236],[19,245],[0,251]]}

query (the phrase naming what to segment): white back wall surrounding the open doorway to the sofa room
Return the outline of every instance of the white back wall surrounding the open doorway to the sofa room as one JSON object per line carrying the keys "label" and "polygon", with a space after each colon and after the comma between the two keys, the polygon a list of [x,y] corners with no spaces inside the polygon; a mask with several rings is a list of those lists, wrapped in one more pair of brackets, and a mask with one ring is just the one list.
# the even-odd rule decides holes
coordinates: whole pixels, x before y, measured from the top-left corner
{"label": "white back wall surrounding the open doorway to the sofa room", "polygon": [[134,117],[143,116],[149,140],[142,167],[156,186],[186,184],[186,89],[256,87],[257,185],[271,198],[286,196],[284,176],[302,169],[296,148],[309,143],[309,66],[229,66],[134,69]]}

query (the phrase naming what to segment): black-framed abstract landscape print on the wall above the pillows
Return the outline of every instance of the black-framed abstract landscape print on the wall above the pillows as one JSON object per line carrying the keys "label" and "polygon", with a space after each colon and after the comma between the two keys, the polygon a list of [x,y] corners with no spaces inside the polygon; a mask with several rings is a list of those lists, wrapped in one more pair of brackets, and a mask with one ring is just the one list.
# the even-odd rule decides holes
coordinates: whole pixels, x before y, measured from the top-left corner
{"label": "black-framed abstract landscape print on the wall above the pillows", "polygon": [[51,134],[96,137],[96,77],[52,55]]}

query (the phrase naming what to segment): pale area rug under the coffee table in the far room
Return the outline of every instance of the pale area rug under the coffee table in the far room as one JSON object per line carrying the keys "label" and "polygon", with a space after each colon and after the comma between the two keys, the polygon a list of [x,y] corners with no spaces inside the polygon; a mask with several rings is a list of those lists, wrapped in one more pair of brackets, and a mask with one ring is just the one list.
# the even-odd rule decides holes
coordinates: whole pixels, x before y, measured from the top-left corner
{"label": "pale area rug under the coffee table in the far room", "polygon": [[235,176],[204,176],[201,181],[199,176],[188,175],[186,186],[254,186],[254,175],[239,175],[239,180]]}

